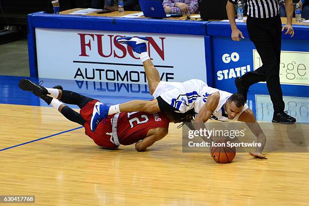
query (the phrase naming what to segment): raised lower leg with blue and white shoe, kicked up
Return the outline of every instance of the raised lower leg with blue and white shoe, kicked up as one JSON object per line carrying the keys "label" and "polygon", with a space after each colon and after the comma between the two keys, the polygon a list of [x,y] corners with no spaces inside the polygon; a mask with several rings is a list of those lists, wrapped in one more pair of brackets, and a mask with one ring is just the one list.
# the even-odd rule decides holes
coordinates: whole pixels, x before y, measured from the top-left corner
{"label": "raised lower leg with blue and white shoe, kicked up", "polygon": [[153,94],[160,83],[160,75],[153,65],[148,53],[146,52],[148,39],[145,37],[122,37],[117,39],[118,43],[128,44],[132,47],[133,51],[139,54],[145,69],[146,78],[148,81],[149,92]]}

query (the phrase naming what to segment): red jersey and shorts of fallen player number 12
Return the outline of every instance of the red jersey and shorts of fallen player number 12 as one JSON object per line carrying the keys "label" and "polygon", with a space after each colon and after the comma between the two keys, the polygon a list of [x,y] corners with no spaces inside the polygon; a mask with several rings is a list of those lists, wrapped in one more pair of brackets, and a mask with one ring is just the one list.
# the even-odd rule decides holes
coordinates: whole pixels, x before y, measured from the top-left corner
{"label": "red jersey and shorts of fallen player number 12", "polygon": [[[94,132],[90,129],[90,119],[94,104],[98,100],[88,102],[80,110],[81,116],[86,120],[85,134],[93,142],[101,147],[117,148],[112,129],[112,120],[115,121],[114,114],[101,121]],[[163,113],[148,114],[145,112],[121,112],[117,118],[117,136],[121,145],[131,145],[143,140],[149,129],[158,127],[169,127],[169,119]]]}

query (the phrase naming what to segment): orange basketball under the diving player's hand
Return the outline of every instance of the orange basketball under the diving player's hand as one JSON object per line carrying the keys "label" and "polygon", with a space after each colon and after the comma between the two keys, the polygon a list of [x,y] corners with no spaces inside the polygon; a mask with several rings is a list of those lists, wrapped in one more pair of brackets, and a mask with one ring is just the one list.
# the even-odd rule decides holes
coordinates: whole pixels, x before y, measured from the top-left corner
{"label": "orange basketball under the diving player's hand", "polygon": [[228,147],[227,143],[228,140],[218,140],[215,143],[215,147],[212,149],[212,158],[217,163],[230,163],[233,161],[236,155],[236,148],[235,147]]}

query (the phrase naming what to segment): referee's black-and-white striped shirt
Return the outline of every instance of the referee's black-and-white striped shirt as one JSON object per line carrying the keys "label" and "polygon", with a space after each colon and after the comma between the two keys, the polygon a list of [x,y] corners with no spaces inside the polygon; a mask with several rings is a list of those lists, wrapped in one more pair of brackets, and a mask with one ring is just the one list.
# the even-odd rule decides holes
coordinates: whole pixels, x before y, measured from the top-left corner
{"label": "referee's black-and-white striped shirt", "polygon": [[[237,4],[240,0],[229,0]],[[245,0],[248,6],[247,15],[255,18],[270,18],[279,15],[280,0]]]}

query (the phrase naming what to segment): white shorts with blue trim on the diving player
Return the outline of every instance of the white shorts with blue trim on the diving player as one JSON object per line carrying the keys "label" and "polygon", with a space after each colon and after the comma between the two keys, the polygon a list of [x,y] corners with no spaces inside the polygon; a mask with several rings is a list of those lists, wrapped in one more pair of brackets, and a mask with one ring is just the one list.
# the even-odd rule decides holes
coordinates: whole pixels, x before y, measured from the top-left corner
{"label": "white shorts with blue trim on the diving player", "polygon": [[176,111],[185,113],[194,108],[194,101],[199,97],[203,87],[208,85],[196,79],[183,83],[160,82],[152,96],[155,98],[160,96]]}

